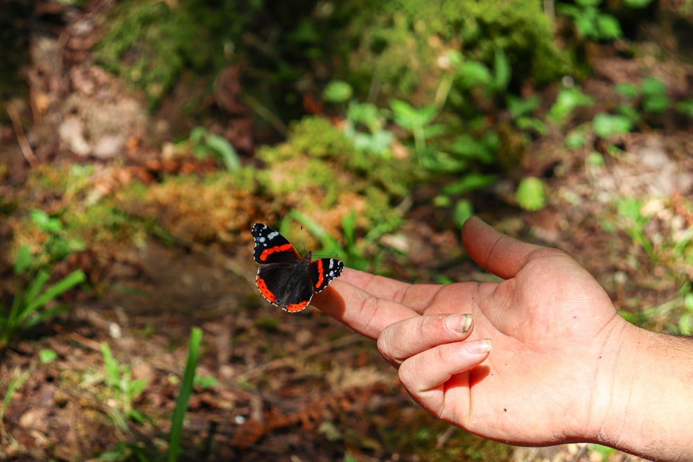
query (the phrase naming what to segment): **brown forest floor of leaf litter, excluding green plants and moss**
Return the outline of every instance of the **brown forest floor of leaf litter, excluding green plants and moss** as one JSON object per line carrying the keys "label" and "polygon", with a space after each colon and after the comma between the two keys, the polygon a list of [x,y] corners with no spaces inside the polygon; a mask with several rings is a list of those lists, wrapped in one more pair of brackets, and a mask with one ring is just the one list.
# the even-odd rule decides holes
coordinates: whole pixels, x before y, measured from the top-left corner
{"label": "brown forest floor of leaf litter, excluding green plants and moss", "polygon": [[[174,91],[157,113],[148,114],[142,100],[89,61],[87,44],[76,36],[53,37],[61,38],[34,37],[26,70],[29,91],[8,103],[12,123],[0,125],[3,203],[14,201],[24,213],[59,211],[84,205],[76,201],[118,197],[140,181],[143,195],[158,195],[157,206],[141,211],[123,204],[125,215],[163,223],[173,236],[204,234],[205,213],[213,215],[215,209],[185,215],[179,203],[184,190],[167,195],[157,188],[164,175],[200,176],[216,167],[194,157],[170,161],[164,149],[153,148],[166,134],[143,129],[175,125],[170,108],[179,106],[176,97],[184,92]],[[88,35],[80,37],[88,42]],[[63,60],[56,62],[55,56]],[[614,73],[639,81],[635,70],[646,65],[613,55],[595,58],[597,72],[583,90],[607,100]],[[687,65],[674,59],[660,70],[672,89],[678,75],[690,75]],[[99,132],[99,123],[118,124],[122,132],[89,145],[83,134]],[[512,236],[567,251],[624,312],[681,305],[681,287],[693,274],[680,264],[670,236],[693,226],[686,202],[693,187],[693,138],[677,127],[672,122],[620,137],[613,141],[620,154],[605,155],[603,165],[586,161],[599,146],[568,151],[562,137],[545,136],[532,147],[523,172],[545,179],[548,205],[537,212],[520,210],[509,179],[475,195],[475,210]],[[161,139],[152,142],[157,136]],[[86,146],[81,155],[80,146]],[[37,175],[44,180],[70,175],[74,165],[91,168],[79,199],[37,180]],[[637,224],[626,224],[613,206],[622,198],[638,199],[647,211],[640,232],[653,242],[654,255],[634,241]],[[197,373],[209,380],[196,386],[188,407],[183,460],[637,460],[588,445],[510,447],[449,427],[414,405],[374,341],[315,308],[289,315],[268,305],[254,285],[249,232],[252,222],[265,220],[254,212],[263,210],[261,200],[245,197],[234,211],[234,229],[243,231],[223,247],[150,234],[135,244],[87,246],[59,265],[56,277],[82,268],[96,288],[72,293],[69,314],[3,351],[0,394],[12,379],[26,382],[6,399],[0,461],[163,454],[193,326],[204,332]],[[455,281],[490,280],[462,252],[452,263],[439,258],[461,245],[453,226],[436,224],[438,213],[430,203],[416,202],[401,231],[418,281],[436,281],[440,274]],[[0,223],[0,252],[6,258],[0,274],[8,276],[0,284],[3,297],[17,287],[9,277],[8,251],[19,222],[15,213]],[[660,314],[647,319],[649,328],[667,330],[676,322],[665,308]],[[105,387],[101,342],[109,344],[132,380],[146,382],[136,399]],[[44,364],[40,350],[53,350],[57,358]],[[128,418],[132,408],[144,416],[141,422]]]}

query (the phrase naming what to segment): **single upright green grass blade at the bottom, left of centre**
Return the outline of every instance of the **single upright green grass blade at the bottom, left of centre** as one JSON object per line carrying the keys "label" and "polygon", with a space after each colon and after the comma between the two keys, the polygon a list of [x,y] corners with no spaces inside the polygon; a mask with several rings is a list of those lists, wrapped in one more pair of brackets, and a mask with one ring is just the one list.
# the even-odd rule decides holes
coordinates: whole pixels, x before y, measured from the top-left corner
{"label": "single upright green grass blade at the bottom, left of centre", "polygon": [[168,440],[168,462],[178,460],[180,454],[180,441],[183,432],[183,420],[185,411],[188,408],[188,401],[193,393],[193,381],[196,377],[195,369],[200,361],[200,345],[202,344],[202,330],[200,328],[192,328],[190,331],[190,339],[188,340],[188,359],[186,360],[185,369],[183,371],[183,380],[178,389],[178,398],[176,398],[173,416],[171,417],[171,429]]}

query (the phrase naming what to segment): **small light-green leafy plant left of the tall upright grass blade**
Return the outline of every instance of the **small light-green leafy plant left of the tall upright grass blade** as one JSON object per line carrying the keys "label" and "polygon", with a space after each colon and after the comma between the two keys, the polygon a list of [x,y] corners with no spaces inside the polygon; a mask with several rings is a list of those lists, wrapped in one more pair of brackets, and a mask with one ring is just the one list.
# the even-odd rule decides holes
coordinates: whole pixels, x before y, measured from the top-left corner
{"label": "small light-green leafy plant left of the tall upright grass blade", "polygon": [[105,342],[101,343],[101,355],[106,372],[106,387],[112,396],[112,410],[114,422],[121,429],[127,428],[125,420],[132,419],[137,423],[144,423],[145,416],[134,409],[134,400],[137,400],[147,387],[147,382],[142,379],[132,380],[130,366],[118,364],[111,353],[111,348]]}

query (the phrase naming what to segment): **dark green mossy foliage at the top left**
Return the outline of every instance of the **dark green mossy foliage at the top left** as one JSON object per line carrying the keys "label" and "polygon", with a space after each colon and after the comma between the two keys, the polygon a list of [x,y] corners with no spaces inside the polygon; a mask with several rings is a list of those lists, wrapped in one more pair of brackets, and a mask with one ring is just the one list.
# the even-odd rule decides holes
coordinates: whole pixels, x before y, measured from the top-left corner
{"label": "dark green mossy foliage at the top left", "polygon": [[234,44],[262,1],[124,1],[115,8],[96,59],[146,95],[155,107],[183,69],[229,64]]}

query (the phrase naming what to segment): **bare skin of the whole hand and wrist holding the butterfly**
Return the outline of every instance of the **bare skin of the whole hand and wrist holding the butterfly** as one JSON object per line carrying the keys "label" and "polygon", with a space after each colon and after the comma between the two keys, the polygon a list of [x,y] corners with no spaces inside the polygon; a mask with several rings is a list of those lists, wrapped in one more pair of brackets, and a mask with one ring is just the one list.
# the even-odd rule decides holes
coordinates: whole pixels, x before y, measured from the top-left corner
{"label": "bare skin of the whole hand and wrist holding the butterfly", "polygon": [[462,229],[499,283],[410,285],[344,269],[313,299],[398,368],[412,398],[469,432],[514,445],[599,443],[693,460],[693,342],[618,316],[557,249]]}

